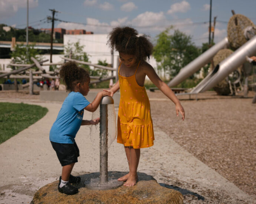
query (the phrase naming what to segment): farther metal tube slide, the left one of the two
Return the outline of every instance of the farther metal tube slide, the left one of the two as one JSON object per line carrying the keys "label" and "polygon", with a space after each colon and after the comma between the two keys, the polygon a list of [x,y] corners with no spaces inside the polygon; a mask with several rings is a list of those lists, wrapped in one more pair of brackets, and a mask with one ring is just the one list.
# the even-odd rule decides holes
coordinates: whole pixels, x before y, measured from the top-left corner
{"label": "farther metal tube slide, the left one of the two", "polygon": [[175,76],[169,83],[169,87],[174,87],[179,83],[183,82],[183,80],[187,79],[189,76],[193,75],[193,73],[197,72],[201,67],[206,65],[211,61],[211,59],[216,55],[216,53],[226,47],[229,44],[227,37],[221,40],[216,45],[212,46],[210,49],[206,50],[203,54],[198,56],[188,65],[180,70],[177,76]]}

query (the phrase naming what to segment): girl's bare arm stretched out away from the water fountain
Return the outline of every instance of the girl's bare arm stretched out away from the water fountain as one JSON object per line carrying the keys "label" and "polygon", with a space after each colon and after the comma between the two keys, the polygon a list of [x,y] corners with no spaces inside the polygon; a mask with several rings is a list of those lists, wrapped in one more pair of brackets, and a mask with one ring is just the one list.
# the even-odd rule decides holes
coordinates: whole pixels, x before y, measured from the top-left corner
{"label": "girl's bare arm stretched out away from the water fountain", "polygon": [[143,70],[144,70],[144,73],[148,76],[148,78],[154,83],[154,85],[156,85],[157,88],[160,89],[160,91],[163,92],[165,96],[167,96],[169,99],[171,99],[171,101],[174,102],[177,116],[179,115],[178,112],[180,112],[182,115],[182,119],[184,120],[185,119],[184,108],[182,107],[179,99],[173,93],[170,87],[159,78],[157,73],[155,73],[154,68],[152,68],[152,66],[149,65],[148,63],[145,66],[143,66]]}

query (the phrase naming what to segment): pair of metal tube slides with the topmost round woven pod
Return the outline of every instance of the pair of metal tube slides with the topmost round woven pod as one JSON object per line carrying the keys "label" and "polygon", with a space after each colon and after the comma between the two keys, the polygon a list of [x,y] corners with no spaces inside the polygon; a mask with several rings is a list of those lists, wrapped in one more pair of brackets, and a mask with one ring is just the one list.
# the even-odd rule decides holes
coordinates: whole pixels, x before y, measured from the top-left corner
{"label": "pair of metal tube slides with the topmost round woven pod", "polygon": [[206,78],[186,94],[197,94],[213,88],[231,72],[246,62],[246,57],[255,55],[256,27],[250,19],[242,14],[233,15],[229,20],[227,32],[228,37],[224,38],[221,42],[217,43],[182,68],[178,75],[168,83],[168,86],[176,86],[181,83],[198,71],[202,66],[209,63],[220,49],[223,49],[228,45],[237,50],[219,64],[214,65],[215,68],[206,76]]}

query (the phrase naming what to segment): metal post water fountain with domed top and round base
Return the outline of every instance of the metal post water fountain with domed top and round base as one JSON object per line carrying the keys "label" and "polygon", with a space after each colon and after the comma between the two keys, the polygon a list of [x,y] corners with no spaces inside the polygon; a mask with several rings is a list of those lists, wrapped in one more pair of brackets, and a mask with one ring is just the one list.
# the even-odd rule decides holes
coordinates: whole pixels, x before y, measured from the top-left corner
{"label": "metal post water fountain with domed top and round base", "polygon": [[[108,190],[118,188],[123,185],[122,181],[108,178],[108,105],[114,104],[110,96],[104,96],[99,105],[100,123],[99,123],[99,178],[91,179],[89,183],[85,182],[85,187],[91,190]],[[115,114],[115,113],[114,113]]]}

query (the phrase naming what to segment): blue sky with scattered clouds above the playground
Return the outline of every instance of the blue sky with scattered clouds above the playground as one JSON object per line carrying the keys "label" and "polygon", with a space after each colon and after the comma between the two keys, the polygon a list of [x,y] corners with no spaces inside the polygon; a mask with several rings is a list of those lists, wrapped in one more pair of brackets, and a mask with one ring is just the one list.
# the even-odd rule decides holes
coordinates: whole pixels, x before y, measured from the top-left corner
{"label": "blue sky with scattered clouds above the playground", "polygon": [[[132,26],[151,37],[173,26],[191,36],[196,46],[209,41],[210,0],[29,0],[29,26],[51,28],[49,9],[58,11],[55,27],[85,29],[107,34],[116,26]],[[256,0],[212,0],[211,20],[216,18],[214,42],[227,36],[227,23],[232,16],[243,14],[256,24]],[[25,28],[27,0],[0,0],[0,23]]]}

